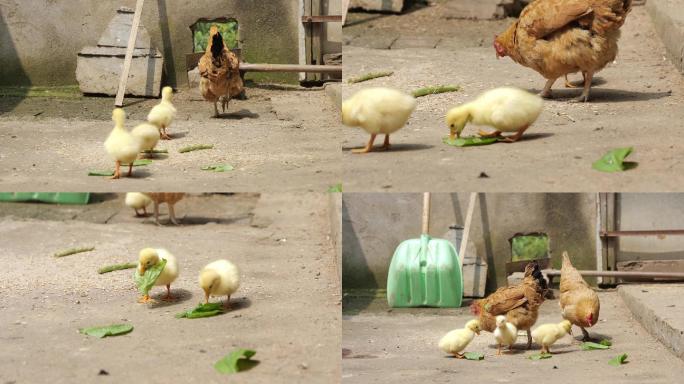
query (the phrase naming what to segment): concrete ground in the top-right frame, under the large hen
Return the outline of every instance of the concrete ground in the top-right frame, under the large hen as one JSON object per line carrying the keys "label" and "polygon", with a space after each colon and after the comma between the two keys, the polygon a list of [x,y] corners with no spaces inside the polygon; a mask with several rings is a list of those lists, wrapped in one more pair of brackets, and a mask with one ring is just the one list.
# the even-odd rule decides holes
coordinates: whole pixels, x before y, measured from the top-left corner
{"label": "concrete ground in the top-right frame, under the large hen", "polygon": [[[394,149],[355,155],[368,135],[343,131],[342,179],[345,191],[681,191],[684,163],[678,129],[684,118],[684,77],[665,57],[643,6],[635,6],[622,28],[620,53],[595,78],[591,100],[570,104],[580,90],[558,81],[556,99],[515,144],[456,148],[442,143],[448,135],[444,115],[481,92],[512,85],[539,92],[541,75],[496,60],[493,36],[513,19],[452,19],[445,1],[404,15],[350,13],[344,28],[345,78],[377,71],[391,77],[347,84],[343,98],[373,86],[410,92],[431,85],[456,84],[461,91],[418,99],[409,123],[393,135]],[[388,49],[390,48],[390,49]],[[579,80],[579,76],[571,76]],[[472,135],[476,127],[466,127]],[[381,144],[381,140],[378,145]],[[591,164],[606,152],[633,146],[636,169],[617,174],[595,171]]]}

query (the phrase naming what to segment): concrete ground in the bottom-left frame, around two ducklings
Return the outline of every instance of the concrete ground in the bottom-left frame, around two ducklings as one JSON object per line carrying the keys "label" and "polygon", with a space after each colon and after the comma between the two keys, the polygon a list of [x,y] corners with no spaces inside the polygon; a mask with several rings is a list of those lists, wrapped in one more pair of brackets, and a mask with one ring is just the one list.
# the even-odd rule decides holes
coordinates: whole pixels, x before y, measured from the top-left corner
{"label": "concrete ground in the bottom-left frame, around two ducklings", "polygon": [[[339,280],[327,201],[324,194],[193,195],[177,205],[181,226],[134,218],[120,196],[82,208],[0,205],[0,382],[339,380]],[[52,257],[86,245],[96,249]],[[179,259],[177,301],[138,304],[132,270],[97,274],[136,260],[145,246],[166,247]],[[198,271],[219,258],[241,268],[233,309],[174,318],[203,299]],[[162,293],[152,290],[156,298]],[[135,329],[105,339],[77,331],[112,323]],[[219,375],[213,364],[235,348],[255,349],[261,363]]]}

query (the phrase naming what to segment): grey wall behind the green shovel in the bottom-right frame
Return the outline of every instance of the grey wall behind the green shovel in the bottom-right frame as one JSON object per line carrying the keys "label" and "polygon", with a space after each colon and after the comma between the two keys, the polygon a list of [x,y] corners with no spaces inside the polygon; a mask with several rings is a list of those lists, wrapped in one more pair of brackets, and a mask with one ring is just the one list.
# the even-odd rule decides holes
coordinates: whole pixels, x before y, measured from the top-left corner
{"label": "grey wall behind the green shovel in the bottom-right frame", "polygon": [[[567,250],[580,269],[595,269],[595,194],[480,194],[471,241],[488,264],[487,290],[505,285],[508,239],[517,232],[542,231],[551,238],[553,265]],[[469,195],[433,194],[430,234],[442,237],[449,225],[463,225]],[[345,193],[342,203],[343,285],[384,288],[395,248],[420,235],[421,194]]]}

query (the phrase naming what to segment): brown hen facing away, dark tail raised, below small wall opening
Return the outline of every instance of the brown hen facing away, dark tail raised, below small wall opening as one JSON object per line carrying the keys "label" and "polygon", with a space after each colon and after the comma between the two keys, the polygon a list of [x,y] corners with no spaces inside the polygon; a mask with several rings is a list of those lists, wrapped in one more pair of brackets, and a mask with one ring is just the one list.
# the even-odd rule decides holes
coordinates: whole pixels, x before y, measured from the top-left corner
{"label": "brown hen facing away, dark tail raised, below small wall opening", "polygon": [[225,112],[230,99],[242,93],[244,84],[240,77],[240,61],[226,47],[215,25],[209,30],[209,43],[199,61],[199,71],[202,97],[214,103],[214,117],[218,117],[218,101]]}

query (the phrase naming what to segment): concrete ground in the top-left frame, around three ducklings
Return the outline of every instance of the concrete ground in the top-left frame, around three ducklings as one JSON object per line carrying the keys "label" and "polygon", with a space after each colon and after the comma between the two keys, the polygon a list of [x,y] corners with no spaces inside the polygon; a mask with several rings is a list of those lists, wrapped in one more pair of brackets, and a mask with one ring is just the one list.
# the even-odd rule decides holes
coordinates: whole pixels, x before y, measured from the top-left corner
{"label": "concrete ground in the top-left frame, around three ducklings", "polygon": [[[325,192],[340,182],[334,131],[339,109],[321,88],[257,85],[247,94],[248,100],[231,101],[229,111],[214,119],[213,105],[198,89],[181,89],[174,100],[178,116],[169,128],[174,140],[157,147],[168,156],[121,180],[88,176],[91,170],[114,168],[103,148],[113,127],[113,99],[0,97],[0,183],[5,190],[32,191]],[[131,129],[158,100],[126,102]],[[193,144],[215,148],[178,152]],[[201,170],[225,163],[235,170]]]}

